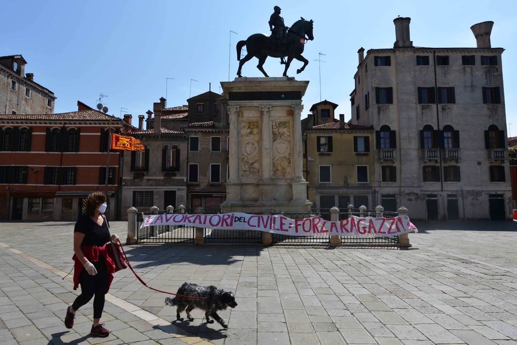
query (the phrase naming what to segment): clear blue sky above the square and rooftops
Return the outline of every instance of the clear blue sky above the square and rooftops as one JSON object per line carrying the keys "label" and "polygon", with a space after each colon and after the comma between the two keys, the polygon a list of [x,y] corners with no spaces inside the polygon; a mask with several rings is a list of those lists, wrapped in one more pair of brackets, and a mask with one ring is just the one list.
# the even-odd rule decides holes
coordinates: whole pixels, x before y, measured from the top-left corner
{"label": "clear blue sky above the square and rooftops", "polygon": [[[475,47],[470,26],[495,22],[492,47],[503,47],[506,114],[512,136],[517,135],[517,5],[514,1],[448,1],[423,6],[415,1],[33,1],[2,5],[4,27],[0,55],[23,54],[26,72],[51,89],[55,112],[77,110],[77,100],[95,106],[100,93],[109,113],[120,108],[136,115],[152,109],[165,97],[168,106],[186,103],[190,79],[192,96],[208,90],[219,92],[228,80],[229,32],[232,35],[230,78],[237,70],[235,43],[254,33],[269,33],[273,6],[282,8],[285,24],[301,17],[314,20],[314,41],[303,56],[310,63],[296,76],[300,62],[289,72],[309,80],[303,99],[304,113],[320,101],[318,52],[321,64],[322,99],[340,106],[337,113],[350,117],[349,93],[360,47],[391,48],[395,40],[393,19],[410,17],[411,38],[420,47]],[[495,2],[493,3],[495,4]],[[16,13],[16,14],[15,14]],[[247,77],[261,77],[253,58],[243,69]],[[278,59],[264,65],[269,76],[281,76]]]}

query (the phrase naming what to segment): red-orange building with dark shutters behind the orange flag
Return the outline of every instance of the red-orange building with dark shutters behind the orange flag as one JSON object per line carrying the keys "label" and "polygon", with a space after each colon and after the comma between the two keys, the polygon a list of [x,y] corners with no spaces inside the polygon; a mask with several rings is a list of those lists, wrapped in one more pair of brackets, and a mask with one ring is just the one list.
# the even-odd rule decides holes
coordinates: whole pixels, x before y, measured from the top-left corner
{"label": "red-orange building with dark shutters behind the orange flag", "polygon": [[[105,190],[110,121],[114,132],[124,125],[91,108],[0,115],[0,219],[77,219],[82,199]],[[119,153],[109,155],[107,215],[114,219]]]}

